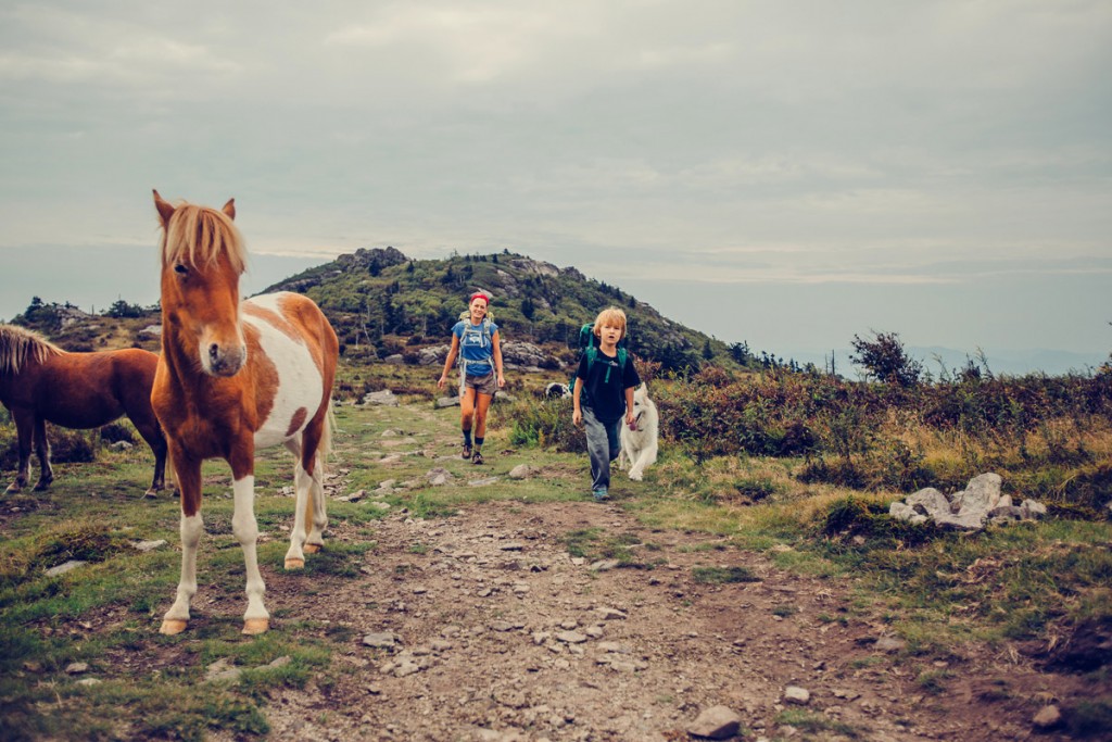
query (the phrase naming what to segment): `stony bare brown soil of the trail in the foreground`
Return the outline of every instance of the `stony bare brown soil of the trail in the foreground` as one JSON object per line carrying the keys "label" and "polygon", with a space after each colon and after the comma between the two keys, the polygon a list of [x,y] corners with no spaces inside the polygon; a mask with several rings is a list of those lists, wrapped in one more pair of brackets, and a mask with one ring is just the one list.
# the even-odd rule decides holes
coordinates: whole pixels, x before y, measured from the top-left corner
{"label": "stony bare brown soil of the trail in the foreground", "polygon": [[[632,536],[644,568],[573,558],[566,535],[584,528]],[[847,610],[843,583],[646,531],[614,504],[403,514],[373,538],[358,577],[265,575],[271,611],[350,635],[338,682],[274,692],[274,739],[687,740],[721,704],[749,740],[1055,740],[1033,731],[1040,709],[1109,691],[1014,652],[904,656]],[[696,566],[759,581],[697,582]],[[788,702],[788,686],[810,700]]]}

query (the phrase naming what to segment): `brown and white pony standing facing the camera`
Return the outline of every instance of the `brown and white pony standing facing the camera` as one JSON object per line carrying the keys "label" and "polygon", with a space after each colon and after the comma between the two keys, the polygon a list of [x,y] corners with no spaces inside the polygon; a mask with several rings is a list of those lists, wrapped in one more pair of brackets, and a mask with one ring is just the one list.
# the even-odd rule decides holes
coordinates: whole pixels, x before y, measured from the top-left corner
{"label": "brown and white pony standing facing the camera", "polygon": [[231,525],[247,566],[244,633],[270,625],[256,555],[255,449],[279,443],[292,452],[297,513],[286,568],[305,566],[327,525],[324,458],[331,438],[331,392],[339,343],[311,299],[289,293],[239,300],[244,241],[222,210],[171,206],[155,191],[162,227],[162,355],[151,402],[166,431],[181,492],[181,581],[162,620],[163,634],[185,631],[197,592],[201,462],[231,467]]}

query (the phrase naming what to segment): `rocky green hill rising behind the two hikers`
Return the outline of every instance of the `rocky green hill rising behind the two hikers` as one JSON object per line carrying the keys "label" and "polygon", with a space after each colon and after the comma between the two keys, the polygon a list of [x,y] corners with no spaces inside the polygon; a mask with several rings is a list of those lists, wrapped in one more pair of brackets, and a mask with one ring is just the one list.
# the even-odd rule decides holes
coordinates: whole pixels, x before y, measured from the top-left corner
{"label": "rocky green hill rising behind the two hikers", "polygon": [[266,290],[298,291],[317,301],[346,355],[385,357],[444,343],[476,288],[493,294],[490,308],[505,340],[547,346],[555,357],[569,355],[584,323],[617,306],[629,316],[633,352],[664,370],[732,363],[724,343],[667,319],[620,288],[509,250],[415,260],[393,247],[359,249]]}

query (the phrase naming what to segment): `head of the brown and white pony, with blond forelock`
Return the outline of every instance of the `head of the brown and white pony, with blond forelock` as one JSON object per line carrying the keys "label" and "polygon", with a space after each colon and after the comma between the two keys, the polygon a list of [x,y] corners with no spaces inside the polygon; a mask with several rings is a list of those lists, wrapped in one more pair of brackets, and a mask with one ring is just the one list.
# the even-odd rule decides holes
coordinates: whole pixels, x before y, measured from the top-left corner
{"label": "head of the brown and white pony, with blond forelock", "polygon": [[[232,225],[235,201],[224,209],[175,208],[155,191],[162,222],[162,311],[183,350],[210,376],[235,376],[247,362],[239,324],[244,246]],[[219,224],[224,221],[225,224]],[[227,236],[225,238],[224,236]]]}

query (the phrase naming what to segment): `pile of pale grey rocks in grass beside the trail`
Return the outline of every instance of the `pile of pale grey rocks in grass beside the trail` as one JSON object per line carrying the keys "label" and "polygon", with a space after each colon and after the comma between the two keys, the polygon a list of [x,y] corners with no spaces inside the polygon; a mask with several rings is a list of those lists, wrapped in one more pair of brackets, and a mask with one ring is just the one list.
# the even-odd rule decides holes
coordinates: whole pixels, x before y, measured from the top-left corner
{"label": "pile of pale grey rocks in grass beside the trail", "polygon": [[999,474],[982,474],[970,479],[963,492],[946,496],[925,487],[888,506],[888,514],[901,521],[935,524],[961,531],[979,531],[990,523],[1032,521],[1046,515],[1046,506],[1033,499],[1015,505],[1011,495],[1000,492]]}

